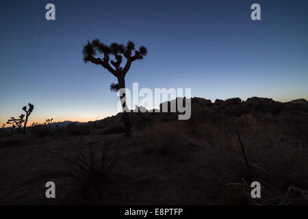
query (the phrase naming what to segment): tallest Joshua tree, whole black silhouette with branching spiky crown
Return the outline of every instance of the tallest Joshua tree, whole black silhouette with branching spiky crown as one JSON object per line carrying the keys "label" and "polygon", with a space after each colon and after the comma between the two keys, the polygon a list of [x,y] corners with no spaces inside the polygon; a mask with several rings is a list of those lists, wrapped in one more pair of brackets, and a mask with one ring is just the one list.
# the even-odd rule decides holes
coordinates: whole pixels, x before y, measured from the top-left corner
{"label": "tallest Joshua tree, whole black silhouette with branching spiky crown", "polygon": [[[135,54],[133,55],[133,51]],[[103,58],[94,57],[97,53],[103,54]],[[131,137],[131,125],[129,122],[129,114],[127,113],[127,104],[126,104],[126,96],[125,96],[125,76],[131,67],[131,63],[136,60],[142,60],[143,57],[148,53],[146,47],[141,46],[139,50],[135,50],[135,44],[131,41],[127,42],[126,46],[123,44],[118,44],[116,42],[110,44],[109,47],[103,44],[103,42],[98,39],[93,40],[84,45],[83,55],[84,62],[92,62],[97,65],[103,66],[106,68],[112,75],[114,75],[118,79],[118,83],[112,83],[110,88],[114,87],[115,90],[120,90],[120,101],[122,104],[123,110],[123,122],[125,125],[125,137]],[[115,61],[110,61],[110,54],[114,55]],[[127,59],[127,62],[123,67],[121,67],[121,63],[123,60],[123,56]],[[112,66],[110,66],[110,63]]]}

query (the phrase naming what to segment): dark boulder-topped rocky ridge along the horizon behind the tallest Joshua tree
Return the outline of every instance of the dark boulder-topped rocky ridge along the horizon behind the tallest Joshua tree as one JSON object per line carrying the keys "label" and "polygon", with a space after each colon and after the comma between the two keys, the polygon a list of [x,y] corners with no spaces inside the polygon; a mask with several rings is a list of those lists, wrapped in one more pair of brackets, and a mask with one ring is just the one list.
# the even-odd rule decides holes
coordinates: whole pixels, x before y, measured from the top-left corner
{"label": "dark boulder-topped rocky ridge along the horizon behind the tallest Joshua tree", "polygon": [[[177,101],[182,98],[177,98],[172,101],[167,101],[159,105],[162,110],[162,105],[168,105],[168,112],[144,112],[144,107],[139,112],[131,110],[130,117],[133,127],[142,127],[144,123],[152,124],[157,121],[172,121],[178,119],[179,112],[170,112],[170,105],[176,105]],[[184,98],[185,99],[185,98]],[[185,100],[181,100],[185,103]],[[136,106],[137,107],[137,106]],[[209,99],[193,97],[191,99],[192,116],[190,120],[202,119],[211,116],[242,116],[244,114],[308,114],[308,102],[305,99],[296,99],[293,101],[281,103],[270,98],[262,98],[253,96],[246,99],[231,98],[226,100],[216,99],[214,103]],[[139,107],[140,109],[140,107]],[[177,110],[177,109],[176,109]],[[89,122],[96,127],[109,127],[112,124],[120,123],[122,113],[115,116],[108,116],[103,120]]]}

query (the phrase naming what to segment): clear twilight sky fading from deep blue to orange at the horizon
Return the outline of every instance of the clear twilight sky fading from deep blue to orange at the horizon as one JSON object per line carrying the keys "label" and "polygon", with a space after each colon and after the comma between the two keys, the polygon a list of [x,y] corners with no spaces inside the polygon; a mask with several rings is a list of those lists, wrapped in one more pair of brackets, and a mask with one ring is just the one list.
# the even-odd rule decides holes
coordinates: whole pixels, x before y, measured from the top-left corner
{"label": "clear twilight sky fading from deep blue to orange at the horizon", "polygon": [[[54,3],[56,21],[45,19]],[[251,4],[261,21],[251,20]],[[127,87],[192,96],[308,99],[308,1],[1,1],[0,124],[33,103],[30,123],[116,114],[116,78],[84,64],[87,40],[136,42]]]}

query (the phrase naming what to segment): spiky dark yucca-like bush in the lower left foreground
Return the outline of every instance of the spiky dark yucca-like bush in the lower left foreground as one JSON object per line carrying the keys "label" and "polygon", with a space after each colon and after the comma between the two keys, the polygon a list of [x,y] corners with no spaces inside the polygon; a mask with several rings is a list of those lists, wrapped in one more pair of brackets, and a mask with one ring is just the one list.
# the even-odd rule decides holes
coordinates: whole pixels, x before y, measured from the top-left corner
{"label": "spiky dark yucca-like bush in the lower left foreground", "polygon": [[67,157],[51,152],[66,164],[66,170],[61,172],[76,181],[75,195],[81,203],[98,204],[107,201],[107,185],[110,185],[120,162],[118,151],[112,150],[111,145],[112,139],[98,146],[81,146]]}

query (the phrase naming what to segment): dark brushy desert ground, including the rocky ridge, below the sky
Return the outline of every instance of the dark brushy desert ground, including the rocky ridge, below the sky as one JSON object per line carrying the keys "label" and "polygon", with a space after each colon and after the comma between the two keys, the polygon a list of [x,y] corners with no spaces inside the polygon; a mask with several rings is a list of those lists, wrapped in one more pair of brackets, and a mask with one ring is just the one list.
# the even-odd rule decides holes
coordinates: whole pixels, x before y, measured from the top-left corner
{"label": "dark brushy desert ground, including the rocky ridge, below the sky", "polygon": [[[0,138],[3,205],[307,205],[308,103],[192,99],[177,113],[118,114],[86,125],[8,130]],[[247,163],[238,138],[242,140]],[[248,171],[248,168],[249,171]],[[56,198],[46,198],[54,181]],[[261,198],[251,198],[251,182]]]}

